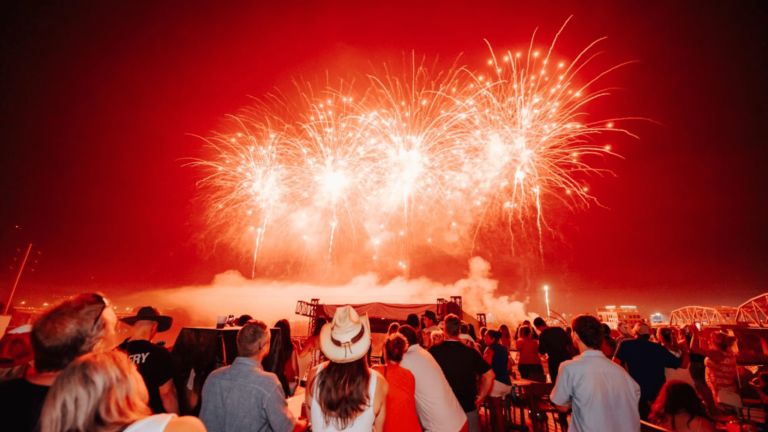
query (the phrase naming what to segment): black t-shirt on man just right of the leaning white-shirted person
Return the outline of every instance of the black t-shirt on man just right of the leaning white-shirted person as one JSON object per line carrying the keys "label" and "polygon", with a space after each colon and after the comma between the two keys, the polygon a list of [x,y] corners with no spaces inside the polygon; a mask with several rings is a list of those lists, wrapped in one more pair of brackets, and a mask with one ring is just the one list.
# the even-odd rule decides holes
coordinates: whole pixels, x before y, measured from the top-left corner
{"label": "black t-shirt on man just right of the leaning white-shirted person", "polygon": [[443,370],[443,375],[464,412],[476,410],[477,376],[491,369],[483,356],[462,342],[453,340],[433,346],[429,353]]}

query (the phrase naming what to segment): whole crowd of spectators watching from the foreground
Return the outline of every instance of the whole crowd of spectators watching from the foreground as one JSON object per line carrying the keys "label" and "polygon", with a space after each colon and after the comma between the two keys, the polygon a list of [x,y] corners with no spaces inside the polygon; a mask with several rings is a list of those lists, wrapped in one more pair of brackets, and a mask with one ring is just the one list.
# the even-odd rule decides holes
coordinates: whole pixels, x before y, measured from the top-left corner
{"label": "whole crowd of spectators watching from the foreground", "polygon": [[[737,417],[742,405],[735,339],[719,331],[706,347],[695,326],[652,331],[638,323],[630,331],[620,323],[613,337],[610,327],[581,315],[567,328],[536,318],[514,334],[501,325],[478,336],[457,315],[438,319],[426,311],[392,323],[374,367],[368,317],[344,306],[330,321],[318,319],[302,345],[288,321],[278,321],[275,355],[268,355],[267,324],[241,317],[237,358],[205,379],[199,418],[179,416],[173,359],[152,342],[172,318],[143,307],[120,321],[132,327],[122,341],[109,301],[82,294],[28,332],[6,335],[0,351],[13,355],[0,362],[0,429],[478,432],[484,407],[490,430],[506,432],[504,404],[516,372],[551,383],[557,421],[576,432],[639,431],[641,419],[668,430],[713,431],[714,419]],[[298,359],[307,356],[302,375]],[[305,409],[295,415],[286,398],[302,383]],[[768,402],[768,376],[755,386]]]}

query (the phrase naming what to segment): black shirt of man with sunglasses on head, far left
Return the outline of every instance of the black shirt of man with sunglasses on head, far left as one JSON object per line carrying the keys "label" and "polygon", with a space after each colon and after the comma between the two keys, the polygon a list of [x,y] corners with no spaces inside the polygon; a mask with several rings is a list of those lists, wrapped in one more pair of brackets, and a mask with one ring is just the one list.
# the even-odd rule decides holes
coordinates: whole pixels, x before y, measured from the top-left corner
{"label": "black shirt of man with sunglasses on head, far left", "polygon": [[0,429],[35,431],[49,389],[48,386],[32,384],[24,378],[0,384]]}

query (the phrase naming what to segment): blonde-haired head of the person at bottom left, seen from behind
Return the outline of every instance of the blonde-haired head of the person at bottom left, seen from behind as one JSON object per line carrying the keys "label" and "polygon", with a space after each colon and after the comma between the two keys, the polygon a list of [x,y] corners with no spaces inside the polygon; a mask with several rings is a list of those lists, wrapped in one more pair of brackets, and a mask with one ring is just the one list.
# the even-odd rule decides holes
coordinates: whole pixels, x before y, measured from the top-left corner
{"label": "blonde-haired head of the person at bottom left, seen from behind", "polygon": [[149,393],[124,352],[85,354],[56,378],[40,417],[41,432],[112,432],[148,417]]}

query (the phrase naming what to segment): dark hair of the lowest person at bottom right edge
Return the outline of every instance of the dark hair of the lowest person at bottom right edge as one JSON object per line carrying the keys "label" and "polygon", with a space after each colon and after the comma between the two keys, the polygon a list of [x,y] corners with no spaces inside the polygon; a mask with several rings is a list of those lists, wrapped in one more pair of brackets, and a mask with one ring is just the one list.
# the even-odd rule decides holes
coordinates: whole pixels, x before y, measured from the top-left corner
{"label": "dark hair of the lowest person at bottom right edge", "polygon": [[687,422],[688,427],[691,426],[691,422],[696,417],[702,417],[712,422],[706,408],[704,408],[704,403],[699,399],[699,395],[696,394],[696,389],[685,381],[667,381],[664,387],[661,388],[656,402],[653,403],[649,418],[654,424],[660,425],[664,423],[667,416],[671,416],[672,430],[677,430],[675,427],[675,415],[681,413],[690,416]]}

